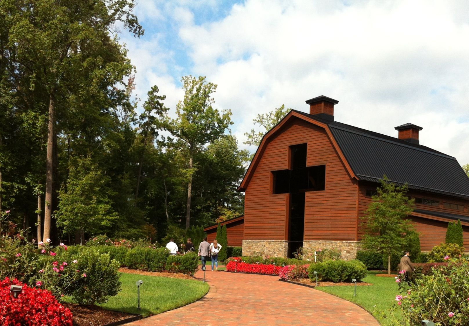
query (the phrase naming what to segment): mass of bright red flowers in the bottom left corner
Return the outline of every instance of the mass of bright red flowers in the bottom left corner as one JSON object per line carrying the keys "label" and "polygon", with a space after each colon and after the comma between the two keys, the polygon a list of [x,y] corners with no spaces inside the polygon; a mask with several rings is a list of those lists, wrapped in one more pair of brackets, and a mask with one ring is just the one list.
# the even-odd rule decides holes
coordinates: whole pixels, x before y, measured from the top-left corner
{"label": "mass of bright red flowers in the bottom left corner", "polygon": [[[15,298],[10,285],[23,286],[23,292]],[[61,305],[51,292],[30,288],[10,280],[0,281],[0,320],[1,325],[16,326],[72,326],[72,313]]]}

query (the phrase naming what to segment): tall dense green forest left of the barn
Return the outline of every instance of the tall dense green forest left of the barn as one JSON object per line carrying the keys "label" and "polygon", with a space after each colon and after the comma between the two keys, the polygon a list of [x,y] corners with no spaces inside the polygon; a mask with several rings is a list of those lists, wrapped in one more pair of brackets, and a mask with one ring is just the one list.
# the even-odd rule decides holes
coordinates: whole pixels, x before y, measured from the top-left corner
{"label": "tall dense green forest left of the barn", "polygon": [[176,108],[153,86],[137,110],[115,27],[143,35],[135,4],[0,0],[0,216],[38,241],[159,240],[243,212],[249,152],[217,85],[182,77]]}

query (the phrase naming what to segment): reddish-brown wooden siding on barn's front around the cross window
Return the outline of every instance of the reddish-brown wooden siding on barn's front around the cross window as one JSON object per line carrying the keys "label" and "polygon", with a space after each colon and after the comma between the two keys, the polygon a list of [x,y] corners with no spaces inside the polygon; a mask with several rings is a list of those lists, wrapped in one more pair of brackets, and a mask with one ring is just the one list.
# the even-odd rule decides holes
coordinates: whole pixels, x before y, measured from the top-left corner
{"label": "reddish-brown wooden siding on barn's front around the cross window", "polygon": [[301,119],[293,120],[265,148],[245,193],[244,239],[287,238],[288,195],[270,193],[271,171],[287,169],[288,146],[305,142],[307,165],[326,165],[326,188],[306,193],[304,239],[356,239],[356,186],[324,129]]}

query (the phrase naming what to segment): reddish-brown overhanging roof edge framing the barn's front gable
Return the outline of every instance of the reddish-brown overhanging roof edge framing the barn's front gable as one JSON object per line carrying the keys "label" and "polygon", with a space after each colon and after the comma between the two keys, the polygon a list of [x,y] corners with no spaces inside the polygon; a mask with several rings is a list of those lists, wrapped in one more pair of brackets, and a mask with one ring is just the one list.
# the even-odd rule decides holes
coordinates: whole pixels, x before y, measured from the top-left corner
{"label": "reddish-brown overhanging roof edge framing the barn's front gable", "polygon": [[241,191],[241,192],[246,191],[246,189],[249,185],[249,182],[252,178],[252,175],[254,174],[254,171],[256,170],[257,165],[259,164],[262,155],[264,154],[264,151],[265,151],[265,148],[267,147],[267,144],[275,137],[275,135],[280,131],[280,129],[283,126],[285,126],[291,119],[295,119],[295,118],[302,119],[304,121],[307,121],[307,122],[311,123],[312,125],[324,128],[325,132],[327,133],[327,136],[329,137],[329,140],[331,141],[331,143],[332,143],[332,145],[335,149],[335,151],[337,152],[338,156],[340,157],[340,160],[345,165],[345,168],[347,169],[348,174],[350,175],[351,178],[355,178],[355,179],[358,180],[358,177],[356,176],[356,174],[352,170],[350,164],[347,162],[347,159],[345,158],[344,154],[340,150],[339,144],[335,140],[329,126],[327,126],[327,124],[322,123],[318,120],[312,119],[310,117],[306,117],[303,114],[301,114],[300,112],[292,110],[292,111],[288,112],[288,114],[283,119],[281,119],[280,122],[277,125],[275,125],[267,133],[265,133],[259,147],[257,148],[256,154],[254,155],[254,158],[252,159],[252,161],[249,165],[249,168],[246,171],[246,174],[244,175],[244,178],[242,179],[241,185],[237,189],[238,191]]}

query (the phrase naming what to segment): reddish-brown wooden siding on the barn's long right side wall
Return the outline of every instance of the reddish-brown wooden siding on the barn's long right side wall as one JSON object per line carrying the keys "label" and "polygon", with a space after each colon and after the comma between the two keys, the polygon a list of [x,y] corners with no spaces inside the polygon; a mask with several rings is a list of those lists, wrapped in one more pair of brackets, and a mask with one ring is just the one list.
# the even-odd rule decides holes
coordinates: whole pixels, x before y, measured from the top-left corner
{"label": "reddish-brown wooden siding on the barn's long right side wall", "polygon": [[[365,216],[364,211],[368,208],[368,205],[371,203],[371,197],[366,197],[366,189],[375,189],[376,186],[373,185],[360,185],[359,193],[358,193],[358,215]],[[436,206],[428,206],[428,205],[420,205],[417,204],[417,209],[426,209],[431,211],[439,211],[439,212],[447,212],[459,215],[468,215],[467,213],[467,200],[460,200],[455,198],[448,198],[446,196],[435,196],[435,195],[428,195],[426,193],[419,193],[415,191],[409,191],[408,193],[411,197],[420,197],[420,198],[427,198],[431,200],[439,200],[440,207]],[[454,209],[443,208],[443,201],[457,203],[461,205],[465,205],[464,211],[456,211]],[[415,217],[412,216],[412,221],[414,221],[414,226],[420,234],[420,245],[422,251],[430,251],[431,248],[435,245],[439,245],[441,242],[445,242],[446,236],[446,228],[448,226],[448,222],[441,222],[436,220],[431,220],[428,218],[423,217]],[[362,220],[359,220],[359,227],[358,227],[358,238],[361,239],[363,235],[363,228],[360,225]],[[463,226],[462,229],[464,230],[464,247],[469,248],[469,227]]]}

